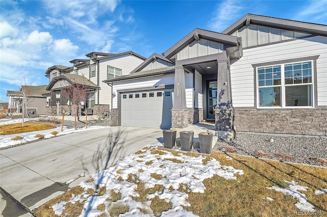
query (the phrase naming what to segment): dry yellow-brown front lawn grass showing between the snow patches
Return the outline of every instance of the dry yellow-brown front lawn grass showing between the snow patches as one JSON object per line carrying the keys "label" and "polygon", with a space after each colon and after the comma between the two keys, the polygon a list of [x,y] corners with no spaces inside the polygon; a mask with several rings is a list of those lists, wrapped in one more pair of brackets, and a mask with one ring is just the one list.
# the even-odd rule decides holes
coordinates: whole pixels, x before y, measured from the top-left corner
{"label": "dry yellow-brown front lawn grass showing between the snow patches", "polygon": [[[166,150],[167,149],[165,149],[165,151]],[[153,151],[159,155],[162,153],[160,148]],[[169,150],[169,152],[172,152],[174,155],[181,153],[174,150]],[[199,154],[196,153],[183,152],[183,154],[199,156]],[[264,152],[259,152],[258,155],[264,154]],[[228,160],[226,156],[232,157],[233,160]],[[281,156],[284,158],[287,157],[285,155]],[[293,199],[291,196],[286,196],[274,190],[267,189],[267,187],[270,186],[282,188],[289,187],[289,183],[286,183],[284,180],[294,180],[298,182],[299,185],[308,186],[308,191],[301,193],[306,195],[308,202],[313,204],[317,211],[323,211],[325,214],[327,213],[327,194],[314,194],[315,190],[327,187],[327,169],[325,168],[303,166],[276,160],[259,159],[221,152],[213,152],[211,155],[205,155],[203,164],[206,164],[211,158],[217,159],[221,165],[232,166],[235,169],[243,170],[244,175],[237,175],[236,180],[226,180],[217,175],[205,179],[203,182],[206,188],[204,194],[192,193],[187,184],[180,184],[178,191],[188,194],[189,198],[187,202],[191,204],[191,206],[184,207],[184,209],[193,211],[194,214],[199,216],[297,216],[295,212],[298,211],[298,209],[294,204],[297,203],[298,200]],[[176,164],[178,164],[178,162],[176,162]],[[155,172],[155,168],[153,168],[153,171]],[[151,176],[156,179],[163,178],[156,173],[152,173]],[[94,180],[90,179],[87,182],[91,181]],[[165,189],[163,185],[158,184],[152,188],[146,188],[145,183],[139,181],[135,174],[129,174],[127,181],[137,185],[135,192],[139,194],[139,197],[133,197],[133,200],[143,204],[149,204],[147,199],[148,194],[162,192]],[[172,186],[169,189],[173,191]],[[103,192],[104,191],[105,189],[103,189]],[[94,194],[94,191],[89,188],[87,189],[87,193]],[[68,196],[62,197],[61,199],[69,199],[71,195],[72,194],[68,194]],[[118,201],[122,199],[121,197],[122,194],[120,192],[110,190],[110,192],[108,192],[107,201]],[[267,200],[266,197],[272,198],[273,201]],[[57,199],[55,202],[58,203],[58,201]],[[48,214],[43,213],[39,215],[35,214],[36,212],[34,214],[36,216],[53,216],[52,208],[49,208],[49,206],[53,204],[54,202],[48,202],[37,209],[37,211],[41,209],[44,213]],[[116,216],[128,211],[128,205],[121,203],[113,204],[108,208],[111,216]],[[72,206],[73,205],[69,204],[69,209],[72,209],[72,213],[76,213],[74,210],[81,210],[80,204],[77,204],[77,208],[75,209],[73,209]],[[67,208],[66,206],[65,213],[69,213]],[[99,210],[103,208],[104,205],[98,207]],[[160,200],[158,196],[156,196],[151,199],[150,208],[154,215],[159,215],[162,211],[171,209],[172,203]],[[47,210],[50,211],[48,212]],[[142,209],[142,211],[144,213],[149,213],[149,210],[146,209]],[[39,211],[37,213],[42,212]],[[67,214],[67,216],[75,215]]]}

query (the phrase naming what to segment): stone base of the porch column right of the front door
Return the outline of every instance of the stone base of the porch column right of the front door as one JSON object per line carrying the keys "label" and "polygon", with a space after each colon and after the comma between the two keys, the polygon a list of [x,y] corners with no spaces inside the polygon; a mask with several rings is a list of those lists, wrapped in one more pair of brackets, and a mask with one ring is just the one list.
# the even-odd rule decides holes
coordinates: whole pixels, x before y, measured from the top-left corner
{"label": "stone base of the porch column right of the front door", "polygon": [[233,110],[215,110],[216,130],[219,139],[232,140],[234,138]]}

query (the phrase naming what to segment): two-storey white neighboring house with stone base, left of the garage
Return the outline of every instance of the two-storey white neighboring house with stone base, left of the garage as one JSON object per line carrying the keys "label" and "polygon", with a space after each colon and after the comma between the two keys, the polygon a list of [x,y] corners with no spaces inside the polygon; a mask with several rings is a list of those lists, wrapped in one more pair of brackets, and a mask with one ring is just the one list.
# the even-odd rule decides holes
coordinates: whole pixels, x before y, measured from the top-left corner
{"label": "two-storey white neighboring house with stone base, left of the garage", "polygon": [[[50,84],[47,88],[50,91],[48,96],[48,116],[60,115],[62,110],[68,112],[67,110],[69,109],[66,106],[69,105],[69,102],[60,96],[60,91],[67,87],[68,84],[72,85],[76,80],[82,82],[81,85],[87,82],[88,87],[90,87],[79,114],[84,114],[84,111],[87,110],[90,115],[108,115],[112,103],[111,87],[102,81],[129,74],[145,60],[144,57],[132,51],[123,53],[91,52],[86,57],[89,59],[69,61],[74,64],[73,67],[57,65],[50,67],[45,72],[45,76],[50,79]],[[76,76],[74,76],[74,79],[71,79],[71,77],[67,77],[68,74]],[[71,114],[72,112],[69,110],[68,113]]]}

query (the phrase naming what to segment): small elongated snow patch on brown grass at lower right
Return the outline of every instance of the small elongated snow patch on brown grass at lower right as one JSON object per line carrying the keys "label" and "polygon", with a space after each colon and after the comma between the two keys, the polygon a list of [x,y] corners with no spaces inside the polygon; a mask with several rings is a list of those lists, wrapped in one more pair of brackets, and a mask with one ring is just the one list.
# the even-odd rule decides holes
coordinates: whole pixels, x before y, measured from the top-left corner
{"label": "small elongated snow patch on brown grass at lower right", "polygon": [[276,186],[271,186],[271,187],[267,187],[267,188],[275,190],[276,192],[281,192],[285,195],[292,196],[295,200],[299,201],[299,202],[295,203],[295,206],[302,211],[310,211],[310,212],[316,211],[314,209],[314,206],[308,202],[306,195],[298,192],[298,191],[306,192],[308,187],[298,185],[298,182],[295,182],[295,181],[285,181],[285,182],[290,184],[289,188],[280,188],[280,187],[276,187]]}

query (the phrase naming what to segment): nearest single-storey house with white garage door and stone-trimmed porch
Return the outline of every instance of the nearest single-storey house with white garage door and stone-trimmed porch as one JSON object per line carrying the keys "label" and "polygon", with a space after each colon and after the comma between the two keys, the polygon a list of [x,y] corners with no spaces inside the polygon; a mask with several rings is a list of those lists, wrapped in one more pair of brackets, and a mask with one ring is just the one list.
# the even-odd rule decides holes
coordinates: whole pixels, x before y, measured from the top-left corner
{"label": "nearest single-storey house with white garage door and stone-trimmed porch", "polygon": [[327,135],[327,26],[247,14],[104,82],[112,125]]}

